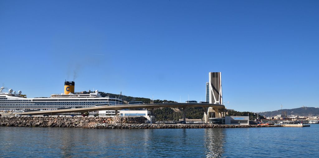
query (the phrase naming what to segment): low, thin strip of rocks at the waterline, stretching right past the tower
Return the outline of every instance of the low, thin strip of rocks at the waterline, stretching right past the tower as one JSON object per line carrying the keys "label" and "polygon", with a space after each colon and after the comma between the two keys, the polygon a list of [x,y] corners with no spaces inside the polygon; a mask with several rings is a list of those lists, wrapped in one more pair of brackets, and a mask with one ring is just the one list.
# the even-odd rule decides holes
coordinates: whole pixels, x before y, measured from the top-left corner
{"label": "low, thin strip of rocks at the waterline, stretching right past the tower", "polygon": [[101,129],[170,129],[170,128],[247,128],[281,127],[281,125],[225,125],[225,124],[91,124],[85,128]]}

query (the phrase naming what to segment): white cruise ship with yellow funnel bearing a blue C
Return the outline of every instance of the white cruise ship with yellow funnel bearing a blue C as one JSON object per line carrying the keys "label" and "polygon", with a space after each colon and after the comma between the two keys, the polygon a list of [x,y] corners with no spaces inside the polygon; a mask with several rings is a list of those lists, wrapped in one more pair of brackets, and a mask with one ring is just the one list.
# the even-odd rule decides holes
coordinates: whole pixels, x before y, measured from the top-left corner
{"label": "white cruise ship with yellow funnel bearing a blue C", "polygon": [[67,108],[84,108],[101,105],[121,105],[119,98],[102,97],[98,90],[93,93],[74,93],[74,81],[64,82],[63,94],[52,94],[50,97],[26,98],[21,91],[3,92],[0,88],[0,111],[56,110]]}

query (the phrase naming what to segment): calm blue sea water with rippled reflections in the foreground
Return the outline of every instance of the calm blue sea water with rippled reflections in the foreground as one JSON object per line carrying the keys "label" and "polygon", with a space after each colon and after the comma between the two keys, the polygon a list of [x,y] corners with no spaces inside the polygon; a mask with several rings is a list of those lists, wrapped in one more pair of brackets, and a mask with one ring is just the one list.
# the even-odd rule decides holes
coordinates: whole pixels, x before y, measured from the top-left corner
{"label": "calm blue sea water with rippled reflections in the foreground", "polygon": [[231,129],[0,127],[0,157],[319,157],[319,124]]}

